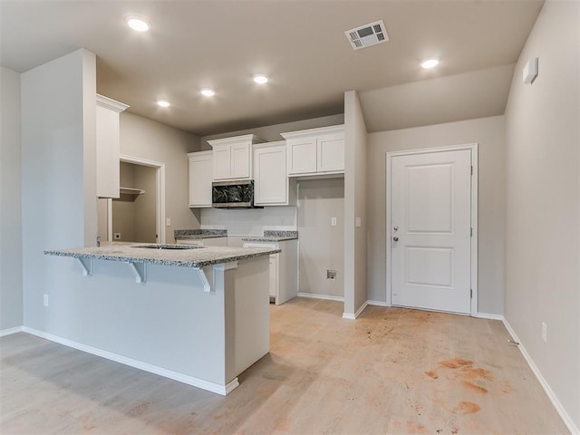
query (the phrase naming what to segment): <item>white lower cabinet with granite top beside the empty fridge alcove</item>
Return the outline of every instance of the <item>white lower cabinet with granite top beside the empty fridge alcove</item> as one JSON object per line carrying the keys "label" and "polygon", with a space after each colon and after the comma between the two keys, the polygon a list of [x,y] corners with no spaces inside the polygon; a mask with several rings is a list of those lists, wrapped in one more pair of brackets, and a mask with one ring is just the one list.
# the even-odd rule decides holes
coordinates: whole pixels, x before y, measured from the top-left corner
{"label": "white lower cabinet with granite top beside the empty fridge alcove", "polygon": [[298,240],[251,241],[244,242],[244,247],[282,249],[279,254],[270,256],[270,297],[280,305],[298,295]]}

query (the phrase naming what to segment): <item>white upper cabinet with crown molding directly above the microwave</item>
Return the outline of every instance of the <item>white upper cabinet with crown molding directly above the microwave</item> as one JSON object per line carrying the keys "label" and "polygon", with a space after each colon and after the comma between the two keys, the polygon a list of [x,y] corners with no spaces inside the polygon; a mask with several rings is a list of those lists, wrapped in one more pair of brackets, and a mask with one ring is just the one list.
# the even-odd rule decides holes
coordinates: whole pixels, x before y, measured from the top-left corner
{"label": "white upper cabinet with crown molding directly above the microwave", "polygon": [[251,179],[252,144],[263,141],[253,134],[208,140],[213,149],[213,179]]}

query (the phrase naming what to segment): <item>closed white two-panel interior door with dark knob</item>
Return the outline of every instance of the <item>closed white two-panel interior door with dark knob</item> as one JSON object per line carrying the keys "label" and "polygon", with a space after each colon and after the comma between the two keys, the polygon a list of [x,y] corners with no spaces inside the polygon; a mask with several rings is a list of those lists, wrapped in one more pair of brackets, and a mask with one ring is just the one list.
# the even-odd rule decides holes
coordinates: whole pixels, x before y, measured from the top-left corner
{"label": "closed white two-panel interior door with dark knob", "polygon": [[471,312],[471,152],[391,158],[391,304]]}

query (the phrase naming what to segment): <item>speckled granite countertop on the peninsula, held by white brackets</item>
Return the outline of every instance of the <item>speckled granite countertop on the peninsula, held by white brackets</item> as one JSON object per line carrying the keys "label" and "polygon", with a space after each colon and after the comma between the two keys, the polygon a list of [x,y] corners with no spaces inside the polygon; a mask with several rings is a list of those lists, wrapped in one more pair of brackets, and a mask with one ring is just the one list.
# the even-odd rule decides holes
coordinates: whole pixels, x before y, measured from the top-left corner
{"label": "speckled granite countertop on the peninsula, held by white brackets", "polygon": [[[205,267],[246,260],[256,256],[269,256],[280,249],[260,247],[197,247],[194,249],[150,249],[151,243],[103,243],[101,247],[46,250],[49,256],[71,256],[96,260],[150,263],[161,266]],[[162,246],[168,246],[167,244]],[[179,245],[169,245],[176,247]],[[191,247],[191,246],[188,246]]]}

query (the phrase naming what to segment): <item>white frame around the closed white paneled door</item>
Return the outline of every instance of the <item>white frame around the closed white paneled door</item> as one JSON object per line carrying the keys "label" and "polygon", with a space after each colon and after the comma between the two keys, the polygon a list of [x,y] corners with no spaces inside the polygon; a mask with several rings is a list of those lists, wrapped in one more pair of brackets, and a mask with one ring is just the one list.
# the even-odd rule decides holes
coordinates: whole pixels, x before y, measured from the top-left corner
{"label": "white frame around the closed white paneled door", "polygon": [[478,143],[466,143],[462,145],[451,145],[448,147],[421,148],[417,150],[390,151],[386,156],[386,303],[391,306],[391,160],[397,156],[410,156],[413,154],[430,154],[444,151],[471,151],[471,167],[473,174],[471,176],[471,228],[473,236],[471,237],[471,315],[478,314]]}

